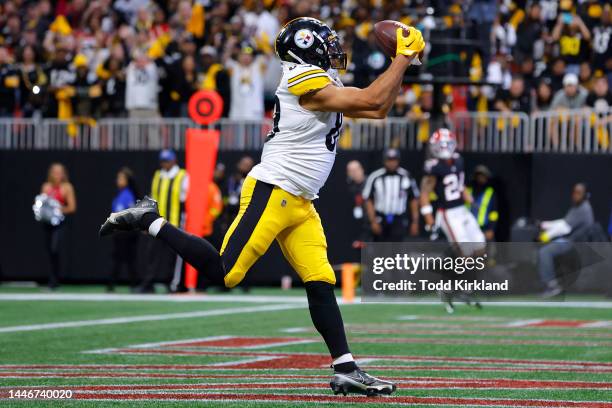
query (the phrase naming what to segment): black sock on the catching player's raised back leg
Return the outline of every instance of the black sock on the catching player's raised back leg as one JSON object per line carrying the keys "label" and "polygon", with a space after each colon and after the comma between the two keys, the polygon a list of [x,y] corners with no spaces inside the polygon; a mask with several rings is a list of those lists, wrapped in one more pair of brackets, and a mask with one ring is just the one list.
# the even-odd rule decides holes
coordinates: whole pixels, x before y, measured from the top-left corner
{"label": "black sock on the catching player's raised back leg", "polygon": [[168,244],[185,262],[191,264],[206,278],[210,279],[213,284],[225,285],[223,279],[225,277],[225,268],[223,267],[221,255],[219,255],[219,252],[210,242],[180,230],[169,222],[164,223],[156,238]]}

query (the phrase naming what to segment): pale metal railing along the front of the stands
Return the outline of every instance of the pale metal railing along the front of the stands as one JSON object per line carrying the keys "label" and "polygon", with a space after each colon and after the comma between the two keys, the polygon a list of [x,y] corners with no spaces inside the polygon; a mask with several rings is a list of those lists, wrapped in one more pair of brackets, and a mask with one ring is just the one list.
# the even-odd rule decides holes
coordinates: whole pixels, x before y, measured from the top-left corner
{"label": "pale metal railing along the front of the stands", "polygon": [[[525,113],[453,112],[448,116],[460,150],[490,153],[612,153],[612,109]],[[422,150],[431,133],[427,119],[345,121],[338,144],[345,150],[397,147]],[[0,149],[131,151],[185,147],[185,132],[198,127],[187,118],[101,120],[0,119]],[[270,119],[222,119],[221,150],[258,150],[272,129]]]}

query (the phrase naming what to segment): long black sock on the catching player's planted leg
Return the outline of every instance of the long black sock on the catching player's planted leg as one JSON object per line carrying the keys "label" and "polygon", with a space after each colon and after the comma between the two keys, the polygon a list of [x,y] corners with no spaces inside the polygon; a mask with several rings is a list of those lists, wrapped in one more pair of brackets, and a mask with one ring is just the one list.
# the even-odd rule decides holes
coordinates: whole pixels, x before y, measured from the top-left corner
{"label": "long black sock on the catching player's planted leg", "polygon": [[[310,317],[315,328],[325,340],[332,358],[350,353],[342,315],[336,303],[336,295],[334,295],[334,285],[327,282],[306,282],[304,287],[308,297]],[[341,372],[350,372],[355,368],[357,366],[353,361],[334,366],[334,369],[342,370]]]}

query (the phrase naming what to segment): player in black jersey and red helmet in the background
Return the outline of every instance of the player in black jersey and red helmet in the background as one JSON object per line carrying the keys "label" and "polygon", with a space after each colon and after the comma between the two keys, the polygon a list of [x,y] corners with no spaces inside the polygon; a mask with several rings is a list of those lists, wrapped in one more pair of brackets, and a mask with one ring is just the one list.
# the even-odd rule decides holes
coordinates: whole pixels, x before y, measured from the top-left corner
{"label": "player in black jersey and red helmet in the background", "polygon": [[[425,161],[424,176],[421,180],[421,214],[425,229],[432,238],[442,229],[446,239],[453,244],[458,256],[479,256],[484,253],[485,236],[474,215],[465,206],[472,197],[465,189],[463,158],[455,150],[457,139],[453,132],[441,128],[429,138],[431,158]],[[431,193],[437,197],[435,213],[430,202]],[[471,293],[458,293],[468,304],[480,307]],[[454,311],[452,293],[442,293],[442,300],[449,313]]]}

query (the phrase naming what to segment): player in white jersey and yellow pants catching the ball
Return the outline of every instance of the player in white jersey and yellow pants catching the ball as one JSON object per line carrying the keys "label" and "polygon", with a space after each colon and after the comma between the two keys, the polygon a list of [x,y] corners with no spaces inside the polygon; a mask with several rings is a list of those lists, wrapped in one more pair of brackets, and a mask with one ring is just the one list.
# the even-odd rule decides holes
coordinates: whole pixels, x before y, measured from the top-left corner
{"label": "player in white jersey and yellow pants catching the ball", "polygon": [[405,70],[424,49],[421,33],[396,33],[396,56],[365,89],[343,87],[336,72],[346,67],[338,36],[324,23],[301,17],[276,38],[283,74],[276,91],[273,130],[261,163],[244,182],[240,211],[219,254],[207,241],[167,223],[148,198],[113,213],[101,235],[141,229],[157,237],[203,274],[228,287],[240,283],[273,240],[304,281],[310,314],[333,360],[330,386],[335,393],[390,394],[395,385],[359,369],[347,344],[334,296],[336,278],[327,259],[327,242],[312,200],[325,183],[336,155],[343,114],[384,118],[399,92]]}

